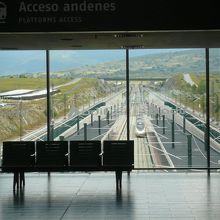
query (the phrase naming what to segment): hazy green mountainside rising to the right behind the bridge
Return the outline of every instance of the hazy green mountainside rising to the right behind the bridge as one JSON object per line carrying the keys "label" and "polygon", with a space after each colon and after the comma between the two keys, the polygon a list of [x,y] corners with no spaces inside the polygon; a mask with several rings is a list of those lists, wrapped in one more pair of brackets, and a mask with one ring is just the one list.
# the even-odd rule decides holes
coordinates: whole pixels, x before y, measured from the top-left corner
{"label": "hazy green mountainside rising to the right behind the bridge", "polygon": [[[166,51],[166,50],[165,50]],[[210,50],[210,72],[219,73],[220,53]],[[205,50],[191,49],[168,51],[166,53],[134,56],[129,60],[130,77],[172,76],[177,73],[205,73]],[[68,75],[79,77],[114,77],[125,78],[125,60],[106,62],[94,66],[69,70]]]}

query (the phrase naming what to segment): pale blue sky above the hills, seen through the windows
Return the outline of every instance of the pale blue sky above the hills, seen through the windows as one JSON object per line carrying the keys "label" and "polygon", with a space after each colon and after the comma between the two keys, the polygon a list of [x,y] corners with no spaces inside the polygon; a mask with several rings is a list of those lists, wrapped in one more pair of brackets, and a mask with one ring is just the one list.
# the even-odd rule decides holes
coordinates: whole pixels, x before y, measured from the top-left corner
{"label": "pale blue sky above the hills, seen through the windows", "polygon": [[[183,49],[136,49],[130,50],[130,57],[155,53],[175,52]],[[45,72],[45,51],[0,51],[0,75]],[[50,70],[52,72],[81,66],[125,59],[125,50],[51,50]]]}

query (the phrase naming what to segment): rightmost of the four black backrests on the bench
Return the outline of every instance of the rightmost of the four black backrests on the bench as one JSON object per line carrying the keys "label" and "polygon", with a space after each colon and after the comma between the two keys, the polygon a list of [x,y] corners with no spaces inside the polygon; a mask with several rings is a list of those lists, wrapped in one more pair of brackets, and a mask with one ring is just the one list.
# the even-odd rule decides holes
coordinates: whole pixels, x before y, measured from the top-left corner
{"label": "rightmost of the four black backrests on the bench", "polygon": [[103,166],[133,167],[134,141],[103,141]]}

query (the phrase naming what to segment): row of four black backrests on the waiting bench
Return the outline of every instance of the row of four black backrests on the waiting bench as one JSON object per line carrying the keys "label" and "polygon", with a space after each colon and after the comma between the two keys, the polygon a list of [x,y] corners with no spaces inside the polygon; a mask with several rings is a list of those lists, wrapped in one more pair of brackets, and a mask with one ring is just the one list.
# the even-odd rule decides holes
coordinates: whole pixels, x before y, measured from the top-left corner
{"label": "row of four black backrests on the waiting bench", "polygon": [[[36,143],[36,150],[35,150]],[[69,143],[69,149],[68,149]],[[3,142],[5,167],[134,167],[134,141]],[[34,157],[36,155],[36,158]],[[69,157],[68,157],[69,155]]]}

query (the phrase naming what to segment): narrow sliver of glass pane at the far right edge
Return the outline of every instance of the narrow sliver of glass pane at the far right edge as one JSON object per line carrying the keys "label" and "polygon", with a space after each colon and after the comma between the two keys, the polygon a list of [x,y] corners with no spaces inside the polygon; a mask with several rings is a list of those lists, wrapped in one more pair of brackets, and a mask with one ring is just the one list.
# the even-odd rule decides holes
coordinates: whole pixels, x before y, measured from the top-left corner
{"label": "narrow sliver of glass pane at the far right edge", "polygon": [[220,167],[220,124],[219,124],[219,96],[220,96],[220,49],[209,50],[210,56],[210,166]]}

